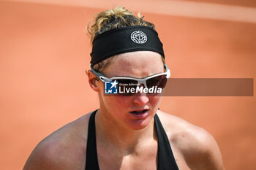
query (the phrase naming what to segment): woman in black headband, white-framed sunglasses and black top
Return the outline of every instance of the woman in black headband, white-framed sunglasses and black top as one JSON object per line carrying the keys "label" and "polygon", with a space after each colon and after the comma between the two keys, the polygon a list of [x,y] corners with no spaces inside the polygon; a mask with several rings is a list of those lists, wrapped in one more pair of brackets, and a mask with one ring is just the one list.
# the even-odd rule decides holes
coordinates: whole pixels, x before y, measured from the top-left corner
{"label": "woman in black headband, white-framed sunglasses and black top", "polygon": [[159,110],[170,71],[154,25],[123,7],[94,22],[88,77],[100,107],[42,140],[23,170],[224,169],[208,132]]}

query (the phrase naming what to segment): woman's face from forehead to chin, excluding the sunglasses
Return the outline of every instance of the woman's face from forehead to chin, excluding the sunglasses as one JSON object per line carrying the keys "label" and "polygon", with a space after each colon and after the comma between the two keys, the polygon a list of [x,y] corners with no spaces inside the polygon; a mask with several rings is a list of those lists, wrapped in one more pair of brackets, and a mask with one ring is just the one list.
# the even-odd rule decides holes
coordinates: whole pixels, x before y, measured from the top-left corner
{"label": "woman's face from forehead to chin, excluding the sunglasses", "polygon": [[[143,78],[164,72],[162,57],[159,53],[138,51],[123,53],[110,61],[102,71],[105,77]],[[135,93],[132,96],[108,96],[104,82],[98,81],[100,114],[109,123],[117,123],[124,128],[141,129],[151,122],[159,107],[161,96],[148,96]]]}

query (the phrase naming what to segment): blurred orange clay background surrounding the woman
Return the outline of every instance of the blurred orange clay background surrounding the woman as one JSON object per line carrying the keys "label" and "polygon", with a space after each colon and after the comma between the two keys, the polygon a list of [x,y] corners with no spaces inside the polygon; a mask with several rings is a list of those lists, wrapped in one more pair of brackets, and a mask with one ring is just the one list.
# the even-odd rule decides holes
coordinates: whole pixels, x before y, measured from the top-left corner
{"label": "blurred orange clay background surrounding the woman", "polygon": [[[98,108],[86,26],[118,5],[156,25],[172,77],[255,78],[256,1],[0,1],[0,169],[23,169],[45,136]],[[209,131],[226,169],[253,170],[255,105],[255,96],[165,96],[160,108]]]}

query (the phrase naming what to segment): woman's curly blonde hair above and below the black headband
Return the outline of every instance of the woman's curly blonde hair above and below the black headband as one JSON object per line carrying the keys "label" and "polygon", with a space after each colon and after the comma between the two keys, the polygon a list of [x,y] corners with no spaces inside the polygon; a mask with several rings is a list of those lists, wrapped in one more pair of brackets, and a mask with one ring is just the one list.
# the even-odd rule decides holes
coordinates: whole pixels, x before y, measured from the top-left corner
{"label": "woman's curly blonde hair above and below the black headband", "polygon": [[[97,14],[93,23],[89,24],[87,27],[91,36],[91,45],[97,35],[114,28],[124,28],[128,26],[148,26],[155,29],[154,24],[143,20],[143,16],[140,15],[140,13],[138,13],[138,16],[136,17],[124,7],[116,7]],[[113,57],[96,63],[94,69],[97,72],[102,71],[112,59]]]}

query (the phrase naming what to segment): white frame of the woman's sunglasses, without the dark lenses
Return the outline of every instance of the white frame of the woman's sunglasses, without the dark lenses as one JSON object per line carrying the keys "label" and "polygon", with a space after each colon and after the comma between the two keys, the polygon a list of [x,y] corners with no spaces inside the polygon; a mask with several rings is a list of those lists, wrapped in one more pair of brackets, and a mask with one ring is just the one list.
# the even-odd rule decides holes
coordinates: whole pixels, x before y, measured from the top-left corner
{"label": "white frame of the woman's sunglasses, without the dark lenses", "polygon": [[96,72],[91,64],[90,64],[90,67],[91,67],[91,72],[93,72],[93,74],[99,78],[99,80],[102,80],[102,82],[110,82],[110,81],[113,81],[113,80],[121,80],[121,79],[126,79],[126,80],[135,80],[138,82],[138,85],[141,85],[143,84],[145,88],[147,88],[147,85],[146,85],[146,80],[148,79],[151,79],[153,77],[158,77],[158,76],[162,76],[162,75],[166,75],[166,78],[167,80],[170,78],[170,69],[167,67],[167,65],[165,64],[165,70],[166,72],[163,72],[163,73],[159,73],[159,74],[154,74],[154,75],[151,75],[151,76],[148,76],[148,77],[145,77],[145,78],[135,78],[135,77],[111,77],[111,78],[108,78],[108,77],[105,77],[103,74],[99,73],[99,72]]}

